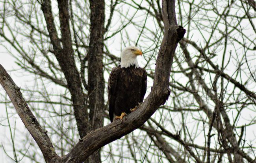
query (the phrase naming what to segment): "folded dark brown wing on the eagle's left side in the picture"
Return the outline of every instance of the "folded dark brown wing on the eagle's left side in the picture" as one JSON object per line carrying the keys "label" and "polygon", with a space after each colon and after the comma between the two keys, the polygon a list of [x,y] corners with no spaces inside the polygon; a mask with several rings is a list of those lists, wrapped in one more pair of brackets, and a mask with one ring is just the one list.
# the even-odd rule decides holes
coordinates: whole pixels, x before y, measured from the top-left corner
{"label": "folded dark brown wing on the eagle's left side in the picture", "polygon": [[110,121],[113,121],[113,111],[115,110],[115,95],[117,88],[117,76],[119,68],[113,68],[108,78],[108,112]]}

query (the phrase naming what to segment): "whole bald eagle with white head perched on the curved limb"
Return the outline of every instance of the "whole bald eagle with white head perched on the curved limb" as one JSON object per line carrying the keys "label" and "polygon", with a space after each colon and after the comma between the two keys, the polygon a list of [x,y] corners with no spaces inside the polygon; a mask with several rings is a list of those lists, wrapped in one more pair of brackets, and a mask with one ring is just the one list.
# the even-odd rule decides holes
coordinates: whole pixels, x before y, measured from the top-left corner
{"label": "whole bald eagle with white head perched on the curved limb", "polygon": [[110,121],[123,119],[143,102],[147,90],[147,73],[140,68],[137,56],[141,50],[129,46],[121,52],[121,62],[113,68],[108,79],[108,104]]}

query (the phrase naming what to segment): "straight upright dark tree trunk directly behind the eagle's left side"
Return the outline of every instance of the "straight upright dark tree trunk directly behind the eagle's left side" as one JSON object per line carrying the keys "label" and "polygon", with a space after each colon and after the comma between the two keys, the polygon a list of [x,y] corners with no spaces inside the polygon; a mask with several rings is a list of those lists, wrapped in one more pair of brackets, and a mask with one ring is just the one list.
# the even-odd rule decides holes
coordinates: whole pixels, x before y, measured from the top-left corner
{"label": "straight upright dark tree trunk directly behind the eagle's left side", "polygon": [[[104,77],[103,39],[105,21],[104,0],[90,0],[91,26],[88,50],[88,97],[90,130],[103,126],[104,119]],[[89,162],[100,163],[100,150],[90,156]]]}

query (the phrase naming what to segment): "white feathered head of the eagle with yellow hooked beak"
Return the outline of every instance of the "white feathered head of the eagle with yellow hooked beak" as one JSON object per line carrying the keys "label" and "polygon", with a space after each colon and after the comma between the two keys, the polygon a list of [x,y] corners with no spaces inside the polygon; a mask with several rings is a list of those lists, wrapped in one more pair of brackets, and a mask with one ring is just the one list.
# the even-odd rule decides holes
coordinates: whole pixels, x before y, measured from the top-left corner
{"label": "white feathered head of the eagle with yellow hooked beak", "polygon": [[121,68],[128,68],[130,66],[135,66],[135,68],[139,68],[139,64],[137,61],[138,55],[142,55],[142,52],[136,46],[128,46],[122,50],[121,53]]}

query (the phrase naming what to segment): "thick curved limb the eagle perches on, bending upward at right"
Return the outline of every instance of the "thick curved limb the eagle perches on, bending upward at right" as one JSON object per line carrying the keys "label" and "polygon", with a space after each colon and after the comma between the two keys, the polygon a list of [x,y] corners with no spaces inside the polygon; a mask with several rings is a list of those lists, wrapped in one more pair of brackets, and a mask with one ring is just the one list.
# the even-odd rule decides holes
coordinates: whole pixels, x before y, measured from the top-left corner
{"label": "thick curved limb the eagle perches on, bending upward at right", "polygon": [[144,103],[141,104],[138,110],[129,114],[123,123],[115,121],[87,134],[75,145],[69,154],[62,158],[63,162],[81,162],[100,147],[132,132],[143,125],[159,106],[168,99],[171,65],[178,40],[174,7],[174,1],[163,0],[165,34],[156,62],[154,85]]}

